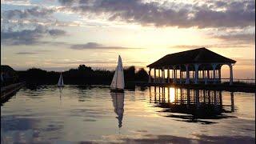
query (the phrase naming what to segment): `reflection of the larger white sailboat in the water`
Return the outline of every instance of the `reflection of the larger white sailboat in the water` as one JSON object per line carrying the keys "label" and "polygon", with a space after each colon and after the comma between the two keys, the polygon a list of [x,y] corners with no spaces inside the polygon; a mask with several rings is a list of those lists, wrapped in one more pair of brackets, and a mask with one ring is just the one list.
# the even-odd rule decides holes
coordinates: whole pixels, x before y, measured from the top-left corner
{"label": "reflection of the larger white sailboat in the water", "polygon": [[122,127],[122,116],[124,106],[124,93],[110,93],[114,106],[114,112],[118,114],[118,127]]}

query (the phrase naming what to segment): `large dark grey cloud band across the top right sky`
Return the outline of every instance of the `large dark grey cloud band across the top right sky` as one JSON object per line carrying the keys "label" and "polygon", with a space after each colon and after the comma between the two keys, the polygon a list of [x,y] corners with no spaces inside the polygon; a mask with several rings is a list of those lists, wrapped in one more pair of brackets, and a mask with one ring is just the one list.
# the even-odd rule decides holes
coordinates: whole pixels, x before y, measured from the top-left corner
{"label": "large dark grey cloud band across the top right sky", "polygon": [[[210,1],[182,4],[175,2],[144,2],[140,0],[98,0],[59,1],[63,7],[59,10],[71,10],[75,13],[108,15],[110,21],[121,20],[139,23],[143,26],[208,27],[245,27],[255,25],[255,2]],[[218,10],[222,9],[222,10]]]}

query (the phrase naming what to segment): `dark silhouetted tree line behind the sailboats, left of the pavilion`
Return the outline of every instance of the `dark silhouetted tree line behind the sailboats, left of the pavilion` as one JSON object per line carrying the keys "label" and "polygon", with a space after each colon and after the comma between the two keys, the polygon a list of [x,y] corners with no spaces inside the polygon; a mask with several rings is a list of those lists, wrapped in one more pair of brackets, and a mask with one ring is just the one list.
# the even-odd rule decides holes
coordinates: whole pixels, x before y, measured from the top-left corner
{"label": "dark silhouetted tree line behind the sailboats, left of the pavilion", "polygon": [[[54,85],[57,84],[59,72],[31,68],[26,71],[17,71],[19,80],[28,85]],[[109,85],[114,76],[114,70],[93,70],[90,66],[80,65],[77,69],[62,72],[66,85]],[[126,83],[147,81],[148,74],[143,68],[135,72],[135,66],[124,69]]]}

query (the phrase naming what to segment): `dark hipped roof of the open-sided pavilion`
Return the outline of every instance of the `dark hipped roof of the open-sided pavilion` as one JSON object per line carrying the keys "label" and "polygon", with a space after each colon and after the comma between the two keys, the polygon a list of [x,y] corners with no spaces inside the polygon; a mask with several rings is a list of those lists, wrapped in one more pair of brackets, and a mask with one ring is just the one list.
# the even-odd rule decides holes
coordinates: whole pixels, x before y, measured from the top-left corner
{"label": "dark hipped roof of the open-sided pavilion", "polygon": [[205,47],[182,51],[174,54],[167,54],[158,61],[151,63],[147,67],[160,68],[162,66],[174,66],[178,64],[193,63],[235,63],[233,59],[223,57],[220,54],[207,50]]}

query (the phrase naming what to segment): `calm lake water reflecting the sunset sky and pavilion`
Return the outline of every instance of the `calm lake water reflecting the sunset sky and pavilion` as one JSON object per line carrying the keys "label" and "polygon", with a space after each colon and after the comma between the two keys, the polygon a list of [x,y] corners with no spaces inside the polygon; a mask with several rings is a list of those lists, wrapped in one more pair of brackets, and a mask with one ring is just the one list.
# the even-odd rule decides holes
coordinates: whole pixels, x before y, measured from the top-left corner
{"label": "calm lake water reflecting the sunset sky and pavilion", "polygon": [[255,94],[38,86],[1,106],[1,143],[254,143]]}

